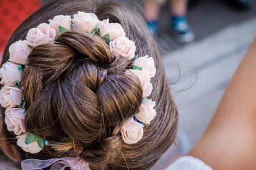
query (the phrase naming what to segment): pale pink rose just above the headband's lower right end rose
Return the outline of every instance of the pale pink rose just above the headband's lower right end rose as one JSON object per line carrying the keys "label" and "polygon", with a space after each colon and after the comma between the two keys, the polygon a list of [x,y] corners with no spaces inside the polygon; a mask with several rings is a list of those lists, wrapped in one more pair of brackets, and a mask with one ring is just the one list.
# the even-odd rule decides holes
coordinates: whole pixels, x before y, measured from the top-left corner
{"label": "pale pink rose just above the headband's lower right end rose", "polygon": [[154,106],[156,106],[156,102],[152,102],[151,99],[148,99],[139,107],[139,113],[136,118],[143,123],[149,124],[156,116]]}

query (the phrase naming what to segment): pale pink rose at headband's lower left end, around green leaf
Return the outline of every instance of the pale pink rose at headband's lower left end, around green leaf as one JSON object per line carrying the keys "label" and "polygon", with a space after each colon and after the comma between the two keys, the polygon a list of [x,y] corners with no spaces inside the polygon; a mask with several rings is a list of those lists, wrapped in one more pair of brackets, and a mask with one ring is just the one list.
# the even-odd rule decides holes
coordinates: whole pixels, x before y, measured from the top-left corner
{"label": "pale pink rose at headband's lower left end, around green leaf", "polygon": [[26,144],[26,138],[28,133],[23,133],[20,136],[17,136],[17,146],[21,147],[23,151],[29,152],[29,153],[38,153],[42,150],[42,148],[39,146],[37,141],[32,142],[30,144]]}

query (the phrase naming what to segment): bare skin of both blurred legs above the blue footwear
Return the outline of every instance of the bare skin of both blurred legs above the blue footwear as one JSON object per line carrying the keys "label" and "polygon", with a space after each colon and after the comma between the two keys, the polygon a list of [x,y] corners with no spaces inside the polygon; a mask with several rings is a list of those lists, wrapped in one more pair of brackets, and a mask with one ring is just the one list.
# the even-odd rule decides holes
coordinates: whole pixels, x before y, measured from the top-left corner
{"label": "bare skin of both blurred legs above the blue footwear", "polygon": [[[161,5],[159,0],[145,0],[143,6],[144,16],[151,21],[158,19]],[[170,11],[171,15],[185,16],[187,12],[187,0],[170,0]]]}

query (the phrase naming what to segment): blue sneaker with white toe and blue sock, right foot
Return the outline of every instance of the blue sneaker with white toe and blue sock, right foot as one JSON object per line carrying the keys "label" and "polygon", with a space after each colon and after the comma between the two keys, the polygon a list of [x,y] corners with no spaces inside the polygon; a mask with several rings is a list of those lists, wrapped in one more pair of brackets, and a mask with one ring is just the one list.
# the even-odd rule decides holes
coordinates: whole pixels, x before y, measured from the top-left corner
{"label": "blue sneaker with white toe and blue sock, right foot", "polygon": [[187,20],[183,16],[171,17],[172,37],[179,43],[189,43],[194,41],[195,34],[191,31]]}

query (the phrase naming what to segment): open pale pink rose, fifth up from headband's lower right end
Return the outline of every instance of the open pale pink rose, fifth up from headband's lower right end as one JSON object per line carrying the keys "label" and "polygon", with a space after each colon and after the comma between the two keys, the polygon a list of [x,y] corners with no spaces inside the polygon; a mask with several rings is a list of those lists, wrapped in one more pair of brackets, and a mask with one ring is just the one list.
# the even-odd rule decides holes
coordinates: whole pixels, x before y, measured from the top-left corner
{"label": "open pale pink rose, fifth up from headband's lower right end", "polygon": [[136,51],[134,41],[129,40],[125,36],[120,36],[110,41],[109,46],[115,56],[123,56],[126,59],[131,59]]}

